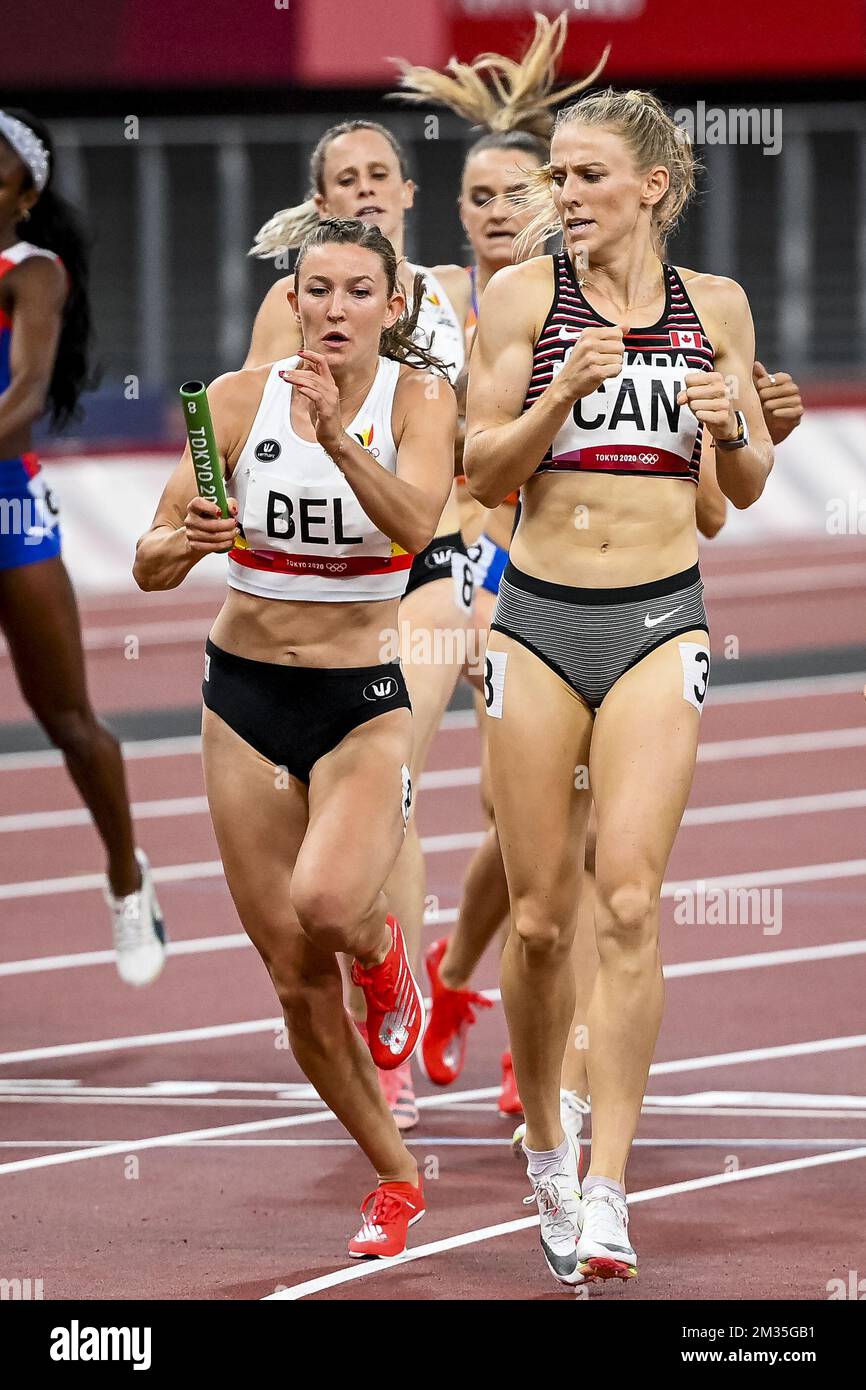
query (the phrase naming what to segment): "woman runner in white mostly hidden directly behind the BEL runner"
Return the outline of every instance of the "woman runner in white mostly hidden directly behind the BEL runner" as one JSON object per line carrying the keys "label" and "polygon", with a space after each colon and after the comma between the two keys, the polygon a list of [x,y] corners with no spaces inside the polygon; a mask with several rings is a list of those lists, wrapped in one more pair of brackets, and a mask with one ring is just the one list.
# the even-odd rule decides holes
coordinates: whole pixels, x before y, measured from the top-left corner
{"label": "woman runner in white mostly hidden directly behind the BEL runner", "polygon": [[[370,227],[378,227],[396,252],[398,279],[406,302],[418,313],[416,339],[446,364],[461,396],[464,322],[471,286],[460,265],[436,265],[431,271],[406,260],[405,221],[414,204],[416,186],[409,178],[399,142],[391,131],[373,121],[346,121],[332,126],[321,136],[310,158],[310,188],[304,203],[277,213],[261,228],[254,254],[285,254],[300,245],[320,217],[357,217]],[[418,271],[425,286],[416,304]],[[265,295],[256,317],[247,367],[286,357],[300,348],[300,325],[288,303],[292,285],[293,277],[284,275]],[[453,488],[431,543],[411,566],[393,634],[393,651],[399,641],[411,696],[410,767],[416,788],[460,677],[473,596],[473,571],[460,538],[460,513]],[[424,924],[427,874],[414,813],[388,883],[388,894],[406,931],[410,959],[416,962]],[[357,1012],[357,999],[353,999],[353,1008]],[[381,1080],[398,1125],[410,1129],[417,1123],[418,1112],[409,1066]]]}

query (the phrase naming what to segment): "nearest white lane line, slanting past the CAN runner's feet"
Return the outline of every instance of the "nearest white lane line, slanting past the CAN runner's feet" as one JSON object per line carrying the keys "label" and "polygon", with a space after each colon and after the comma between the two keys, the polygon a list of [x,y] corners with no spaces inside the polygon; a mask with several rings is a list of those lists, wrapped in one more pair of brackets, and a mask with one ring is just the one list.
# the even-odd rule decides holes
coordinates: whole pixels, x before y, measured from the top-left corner
{"label": "nearest white lane line, slanting past the CAN runner's feet", "polygon": [[[628,1195],[628,1205],[652,1202],[662,1197],[676,1197],[681,1193],[703,1191],[708,1187],[720,1187],[726,1183],[744,1183],[755,1177],[773,1177],[778,1173],[794,1173],[801,1169],[822,1168],[828,1163],[847,1163],[859,1158],[866,1158],[866,1145],[841,1152],[810,1154],[806,1158],[783,1159],[777,1163],[762,1163],[756,1168],[740,1168],[734,1173],[712,1173],[708,1177],[692,1177],[683,1183],[669,1183],[666,1187],[648,1187],[641,1193],[631,1193]],[[438,1255],[445,1250],[459,1250],[463,1245],[475,1245],[485,1240],[496,1240],[499,1236],[530,1230],[532,1226],[538,1226],[538,1216],[524,1216],[521,1220],[502,1222],[498,1226],[482,1226],[478,1230],[461,1232],[459,1236],[448,1236],[445,1240],[434,1240],[428,1245],[407,1250],[405,1255],[398,1255],[396,1259],[374,1259],[360,1268],[350,1265],[348,1269],[336,1269],[331,1275],[307,1279],[304,1283],[292,1284],[288,1289],[278,1286],[272,1294],[265,1294],[264,1301],[288,1300],[295,1302],[299,1298],[309,1298],[310,1294],[322,1293],[325,1289],[334,1289],[354,1279],[370,1279],[388,1269],[393,1269],[396,1265],[409,1265],[416,1259],[427,1259],[430,1255]]]}

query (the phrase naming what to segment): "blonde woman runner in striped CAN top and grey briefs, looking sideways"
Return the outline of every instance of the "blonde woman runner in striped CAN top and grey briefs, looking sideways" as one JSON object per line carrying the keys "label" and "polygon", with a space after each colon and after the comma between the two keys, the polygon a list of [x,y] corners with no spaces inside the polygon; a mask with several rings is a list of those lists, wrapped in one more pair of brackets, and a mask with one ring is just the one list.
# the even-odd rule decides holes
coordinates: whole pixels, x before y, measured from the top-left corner
{"label": "blonde woman runner in striped CAN top and grey briefs, looking sideways", "polygon": [[[534,182],[527,240],[556,227],[564,250],[488,286],[464,466],[487,506],[523,488],[485,676],[513,923],[502,992],[542,1250],[557,1279],[577,1283],[637,1273],[626,1165],[662,1016],[659,892],[709,681],[701,436],[712,434],[720,488],[738,507],[760,496],[773,446],[746,296],[663,260],[694,160],[655,97],[607,90],[560,111]],[[591,795],[599,967],[581,1198],[559,1087]]]}

